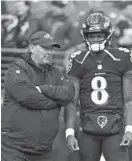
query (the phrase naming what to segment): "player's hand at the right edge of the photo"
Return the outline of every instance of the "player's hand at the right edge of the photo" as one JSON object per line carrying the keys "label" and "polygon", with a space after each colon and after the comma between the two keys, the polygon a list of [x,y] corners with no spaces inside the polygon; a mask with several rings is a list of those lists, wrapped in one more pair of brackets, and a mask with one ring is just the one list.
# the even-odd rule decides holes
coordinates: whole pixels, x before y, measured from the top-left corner
{"label": "player's hand at the right edge of the photo", "polygon": [[125,132],[120,146],[130,146],[132,144],[132,133],[127,131]]}

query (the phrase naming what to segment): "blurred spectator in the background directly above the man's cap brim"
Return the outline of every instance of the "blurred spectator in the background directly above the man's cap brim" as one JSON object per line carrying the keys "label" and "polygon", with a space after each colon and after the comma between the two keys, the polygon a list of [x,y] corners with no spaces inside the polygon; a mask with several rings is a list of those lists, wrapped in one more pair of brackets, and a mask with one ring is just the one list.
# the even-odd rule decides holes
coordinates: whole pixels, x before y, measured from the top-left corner
{"label": "blurred spectator in the background directly above the man's cap brim", "polygon": [[71,46],[72,23],[65,14],[67,3],[52,1],[50,11],[40,19],[41,30],[49,32],[62,45],[62,50]]}

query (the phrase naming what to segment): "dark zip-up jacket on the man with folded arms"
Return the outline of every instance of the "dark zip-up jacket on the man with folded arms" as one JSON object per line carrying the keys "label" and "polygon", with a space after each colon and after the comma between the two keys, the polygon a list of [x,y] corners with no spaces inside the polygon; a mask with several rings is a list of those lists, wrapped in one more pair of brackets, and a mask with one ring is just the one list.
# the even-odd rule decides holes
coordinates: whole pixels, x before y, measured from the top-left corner
{"label": "dark zip-up jacket on the man with folded arms", "polygon": [[73,96],[73,87],[58,68],[45,65],[40,69],[26,54],[9,67],[5,77],[2,143],[36,154],[51,150],[60,107]]}

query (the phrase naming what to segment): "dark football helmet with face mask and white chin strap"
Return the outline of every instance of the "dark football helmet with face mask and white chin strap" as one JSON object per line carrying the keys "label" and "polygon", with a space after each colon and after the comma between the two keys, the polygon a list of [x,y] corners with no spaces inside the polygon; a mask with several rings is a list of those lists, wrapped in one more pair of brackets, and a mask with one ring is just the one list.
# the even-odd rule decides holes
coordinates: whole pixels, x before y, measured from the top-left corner
{"label": "dark football helmet with face mask and white chin strap", "polygon": [[[84,41],[88,45],[89,50],[98,52],[110,45],[113,31],[114,29],[108,17],[102,13],[92,13],[82,24],[81,34],[83,35]],[[88,40],[88,35],[92,33],[105,33],[105,39],[91,43]]]}

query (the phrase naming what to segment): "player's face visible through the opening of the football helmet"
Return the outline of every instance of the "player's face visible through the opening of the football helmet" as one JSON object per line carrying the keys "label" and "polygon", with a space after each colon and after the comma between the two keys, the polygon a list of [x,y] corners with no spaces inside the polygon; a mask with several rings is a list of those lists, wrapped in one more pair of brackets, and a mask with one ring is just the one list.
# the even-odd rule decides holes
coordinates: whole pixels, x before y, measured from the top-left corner
{"label": "player's face visible through the opening of the football helmet", "polygon": [[94,43],[99,43],[99,42],[103,42],[105,40],[105,33],[91,33],[88,34],[88,41],[90,42],[90,44],[94,44]]}

